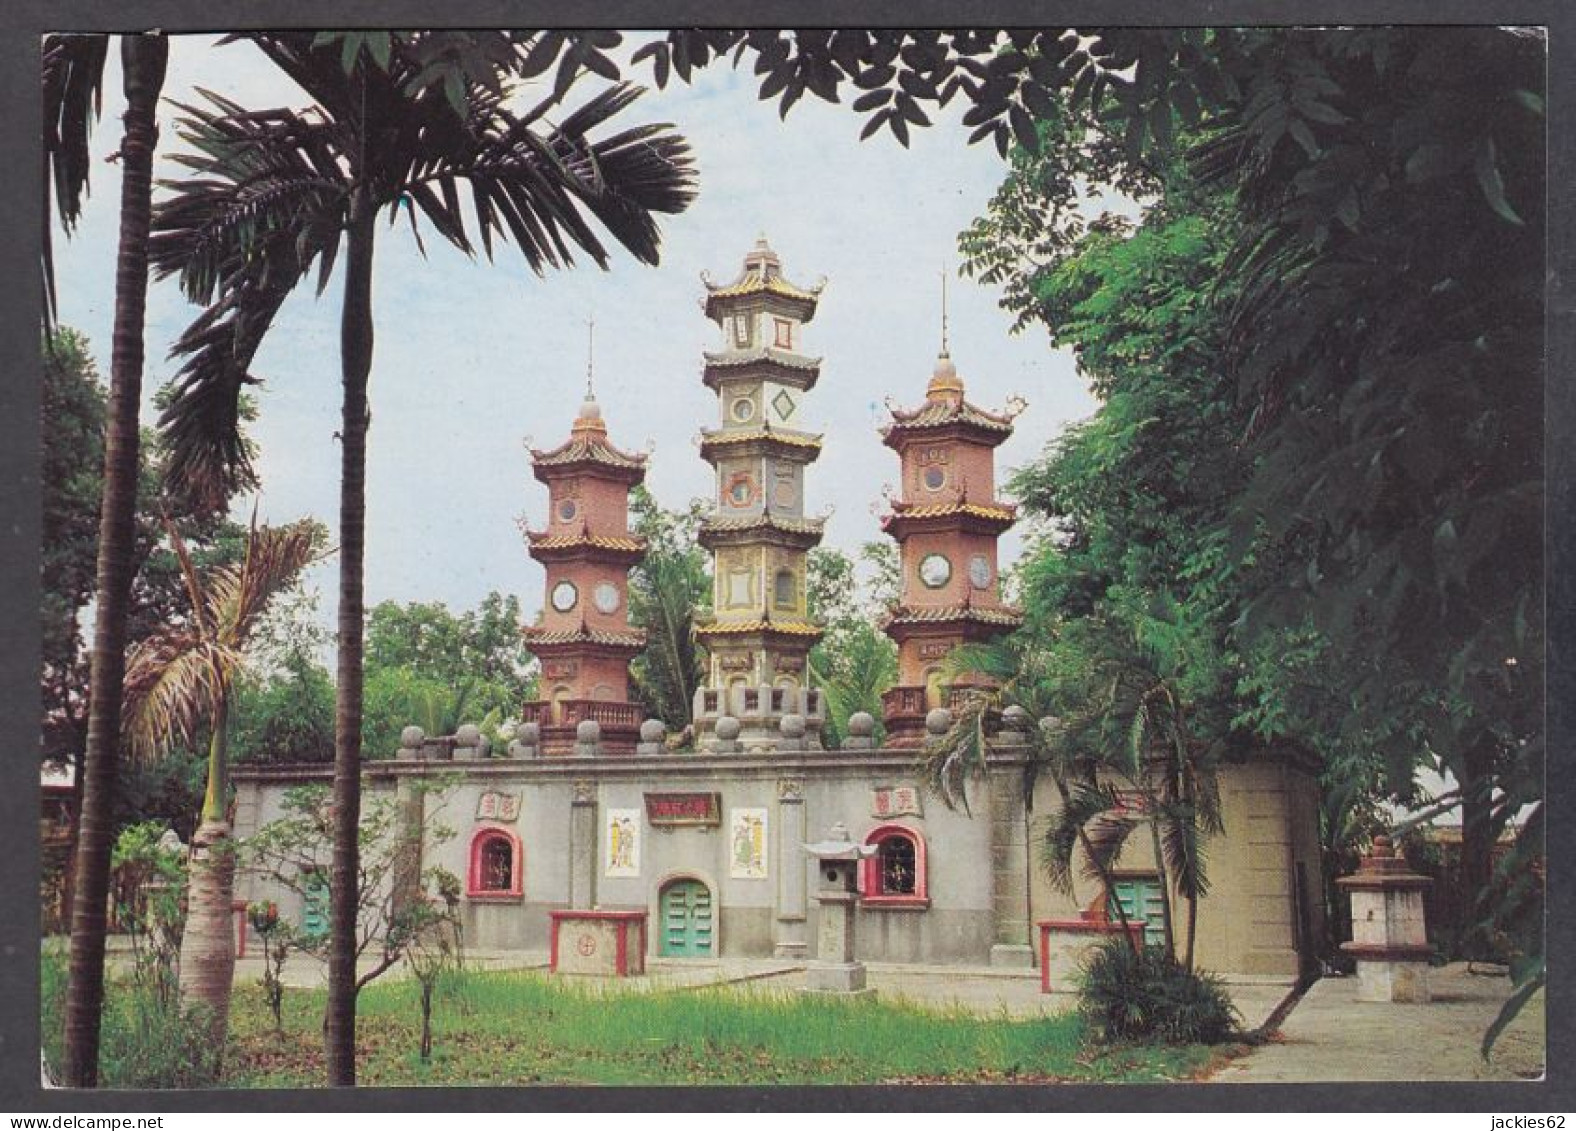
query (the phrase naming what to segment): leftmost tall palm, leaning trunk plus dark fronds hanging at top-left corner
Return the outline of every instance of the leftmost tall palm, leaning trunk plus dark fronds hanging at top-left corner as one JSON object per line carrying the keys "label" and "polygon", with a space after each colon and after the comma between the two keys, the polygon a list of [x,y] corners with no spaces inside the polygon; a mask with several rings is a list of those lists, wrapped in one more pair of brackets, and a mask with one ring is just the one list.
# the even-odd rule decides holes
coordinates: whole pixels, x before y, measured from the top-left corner
{"label": "leftmost tall palm, leaning trunk plus dark fronds hanging at top-left corner", "polygon": [[[82,210],[88,180],[88,131],[99,110],[106,36],[44,41],[44,255],[46,315],[54,313],[49,244],[50,189],[66,228]],[[77,819],[76,893],[71,906],[66,1065],[69,1087],[98,1084],[99,1018],[104,1007],[104,907],[109,898],[110,808],[120,747],[126,610],[131,597],[137,510],[137,414],[142,405],[142,328],[148,298],[148,224],[153,198],[154,107],[164,87],[169,41],[123,36],[126,95],[120,143],[120,247],[115,261],[115,329],[109,414],[104,425],[104,495],[95,580],[93,660],[82,810]]]}

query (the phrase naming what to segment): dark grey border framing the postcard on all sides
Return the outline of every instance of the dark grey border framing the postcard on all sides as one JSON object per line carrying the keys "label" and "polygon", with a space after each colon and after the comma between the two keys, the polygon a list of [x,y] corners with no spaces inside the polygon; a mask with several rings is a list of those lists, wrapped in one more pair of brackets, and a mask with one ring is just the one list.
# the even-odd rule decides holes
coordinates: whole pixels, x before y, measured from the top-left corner
{"label": "dark grey border framing the postcard on all sides", "polygon": [[[1332,25],[1332,24],[1519,24],[1549,32],[1549,258],[1544,447],[1548,474],[1549,638],[1549,1057],[1552,1079],[1529,1084],[1288,1084],[1288,1085],[1056,1085],[933,1088],[358,1088],[268,1092],[276,1111],[1481,1111],[1537,1114],[1576,1111],[1571,1065],[1571,721],[1576,665],[1573,570],[1571,372],[1576,362],[1571,161],[1576,129],[1576,5],[1565,0],[909,0],[903,5],[835,0],[768,0],[741,9],[722,0],[604,0],[567,13],[561,0],[8,0],[0,8],[0,216],[8,238],[0,269],[9,280],[0,298],[0,1107],[35,1112],[224,1112],[247,1092],[46,1092],[38,1049],[38,794],[35,772],[39,654],[39,432],[38,432],[38,44],[49,30],[211,32],[260,27],[946,27],[957,24],[1031,27],[1046,24],[1128,25]],[[106,110],[117,113],[118,93]],[[106,126],[109,128],[109,126]],[[1404,1032],[1396,1040],[1406,1040]]]}

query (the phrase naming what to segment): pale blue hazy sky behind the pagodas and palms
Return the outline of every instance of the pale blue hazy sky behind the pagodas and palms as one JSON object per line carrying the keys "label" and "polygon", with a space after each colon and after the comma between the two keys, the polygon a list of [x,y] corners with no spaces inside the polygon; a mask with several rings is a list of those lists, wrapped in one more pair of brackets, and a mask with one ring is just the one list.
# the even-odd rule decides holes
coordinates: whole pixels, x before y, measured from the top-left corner
{"label": "pale blue hazy sky behind the pagodas and palms", "polygon": [[[87,334],[107,376],[113,313],[118,167],[104,164],[120,140],[120,74],[110,52],[106,117],[95,137],[91,197],[69,241],[57,244],[60,318]],[[640,71],[637,77],[646,72]],[[195,88],[243,106],[304,107],[309,99],[249,44],[175,36],[161,109],[158,175],[177,175],[180,148],[169,99]],[[526,95],[528,96],[528,95]],[[961,102],[961,99],[958,99]],[[512,249],[495,261],[470,260],[426,232],[427,258],[410,228],[380,227],[374,260],[375,353],[367,466],[366,597],[441,600],[476,606],[490,591],[520,597],[526,617],[542,603],[542,570],[517,526],[544,525],[547,488],[531,477],[528,444],[555,447],[585,394],[586,320],[596,321],[596,394],[613,443],[651,451],[646,485],[682,509],[712,491],[697,435],[717,422],[717,400],[700,381],[701,351],[720,331],[700,310],[700,274],[731,280],[764,235],[783,273],[801,285],[826,277],[804,351],[823,358],[821,378],[801,427],[821,432],[821,458],[807,473],[810,514],[829,514],[824,545],[854,556],[879,540],[883,490],[897,457],[878,427],[890,397],[924,397],[941,342],[941,273],[949,273],[949,337],[968,397],[999,410],[1028,400],[998,468],[1034,460],[1095,402],[1067,351],[1043,328],[1013,337],[999,291],[957,277],[957,235],[983,213],[1005,165],[988,143],[966,145],[963,107],[939,110],[903,150],[889,134],[859,142],[864,124],[846,106],[802,99],[779,120],[756,99],[745,66],[723,63],[693,85],[673,82],[626,110],[623,124],[670,121],[690,142],[698,197],[662,217],[662,263],[649,268],[623,250],[611,268],[580,261],[536,277]],[[611,244],[611,239],[608,239]],[[339,280],[317,298],[303,285],[284,306],[252,372],[258,417],[260,515],[284,523],[314,515],[331,529],[339,514]],[[148,296],[147,402],[177,370],[169,345],[197,307],[173,280]],[[244,520],[251,498],[236,501]],[[1002,539],[1002,562],[1023,532]],[[334,564],[307,578],[333,622]]]}

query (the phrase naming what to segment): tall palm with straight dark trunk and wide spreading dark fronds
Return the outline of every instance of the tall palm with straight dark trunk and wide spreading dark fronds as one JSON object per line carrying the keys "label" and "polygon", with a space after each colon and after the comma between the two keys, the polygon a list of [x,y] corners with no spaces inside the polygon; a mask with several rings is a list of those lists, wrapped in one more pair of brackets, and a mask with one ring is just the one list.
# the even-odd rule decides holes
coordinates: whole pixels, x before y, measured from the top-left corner
{"label": "tall palm with straight dark trunk and wide spreading dark fronds", "polygon": [[[597,265],[608,254],[594,217],[638,260],[656,263],[652,213],[682,211],[692,195],[689,146],[668,126],[646,124],[593,142],[588,134],[641,93],[616,83],[547,123],[567,88],[515,113],[501,77],[526,72],[530,36],[506,33],[249,36],[315,106],[246,112],[222,99],[183,107],[181,161],[195,178],[172,184],[156,221],[154,261],[180,273],[206,307],[177,342],[186,356],[164,414],[175,484],[222,496],[246,473],[236,430],[240,391],[285,296],[315,263],[326,284],[340,239],[344,384],[339,514],[339,662],[334,723],[333,942],[328,1073],[355,1084],[356,824],[361,810],[362,558],[366,451],[370,424],[372,254],[377,216],[403,208],[471,254],[466,189],[482,249],[514,239],[526,265],[569,266],[571,244]],[[444,50],[463,39],[460,50]],[[468,46],[466,46],[468,44]],[[602,58],[582,52],[577,58]],[[449,60],[449,61],[446,61]],[[575,66],[569,68],[572,79]],[[416,235],[419,241],[419,232]]]}

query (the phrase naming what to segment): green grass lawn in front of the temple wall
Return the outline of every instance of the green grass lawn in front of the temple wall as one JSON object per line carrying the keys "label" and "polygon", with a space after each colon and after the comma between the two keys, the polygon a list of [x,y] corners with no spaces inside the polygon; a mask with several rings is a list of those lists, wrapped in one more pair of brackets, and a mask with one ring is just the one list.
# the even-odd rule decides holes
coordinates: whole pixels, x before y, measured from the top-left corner
{"label": "green grass lawn in front of the temple wall", "polygon": [[[284,1033],[238,986],[225,1084],[323,1082],[323,991],[287,991]],[[1089,1049],[1073,1016],[979,1018],[793,992],[619,992],[537,972],[468,972],[440,991],[430,1063],[414,981],[361,994],[358,1079],[400,1084],[892,1084],[1182,1081],[1232,1048]]]}

